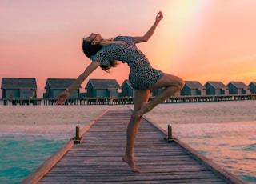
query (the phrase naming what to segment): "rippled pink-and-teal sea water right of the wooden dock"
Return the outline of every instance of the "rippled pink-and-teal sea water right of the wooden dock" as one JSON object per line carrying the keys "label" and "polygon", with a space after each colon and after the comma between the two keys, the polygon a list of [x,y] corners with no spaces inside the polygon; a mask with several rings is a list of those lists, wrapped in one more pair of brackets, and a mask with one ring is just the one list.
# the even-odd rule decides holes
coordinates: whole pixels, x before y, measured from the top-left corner
{"label": "rippled pink-and-teal sea water right of the wooden dock", "polygon": [[256,136],[182,138],[183,142],[218,163],[225,170],[256,183]]}

